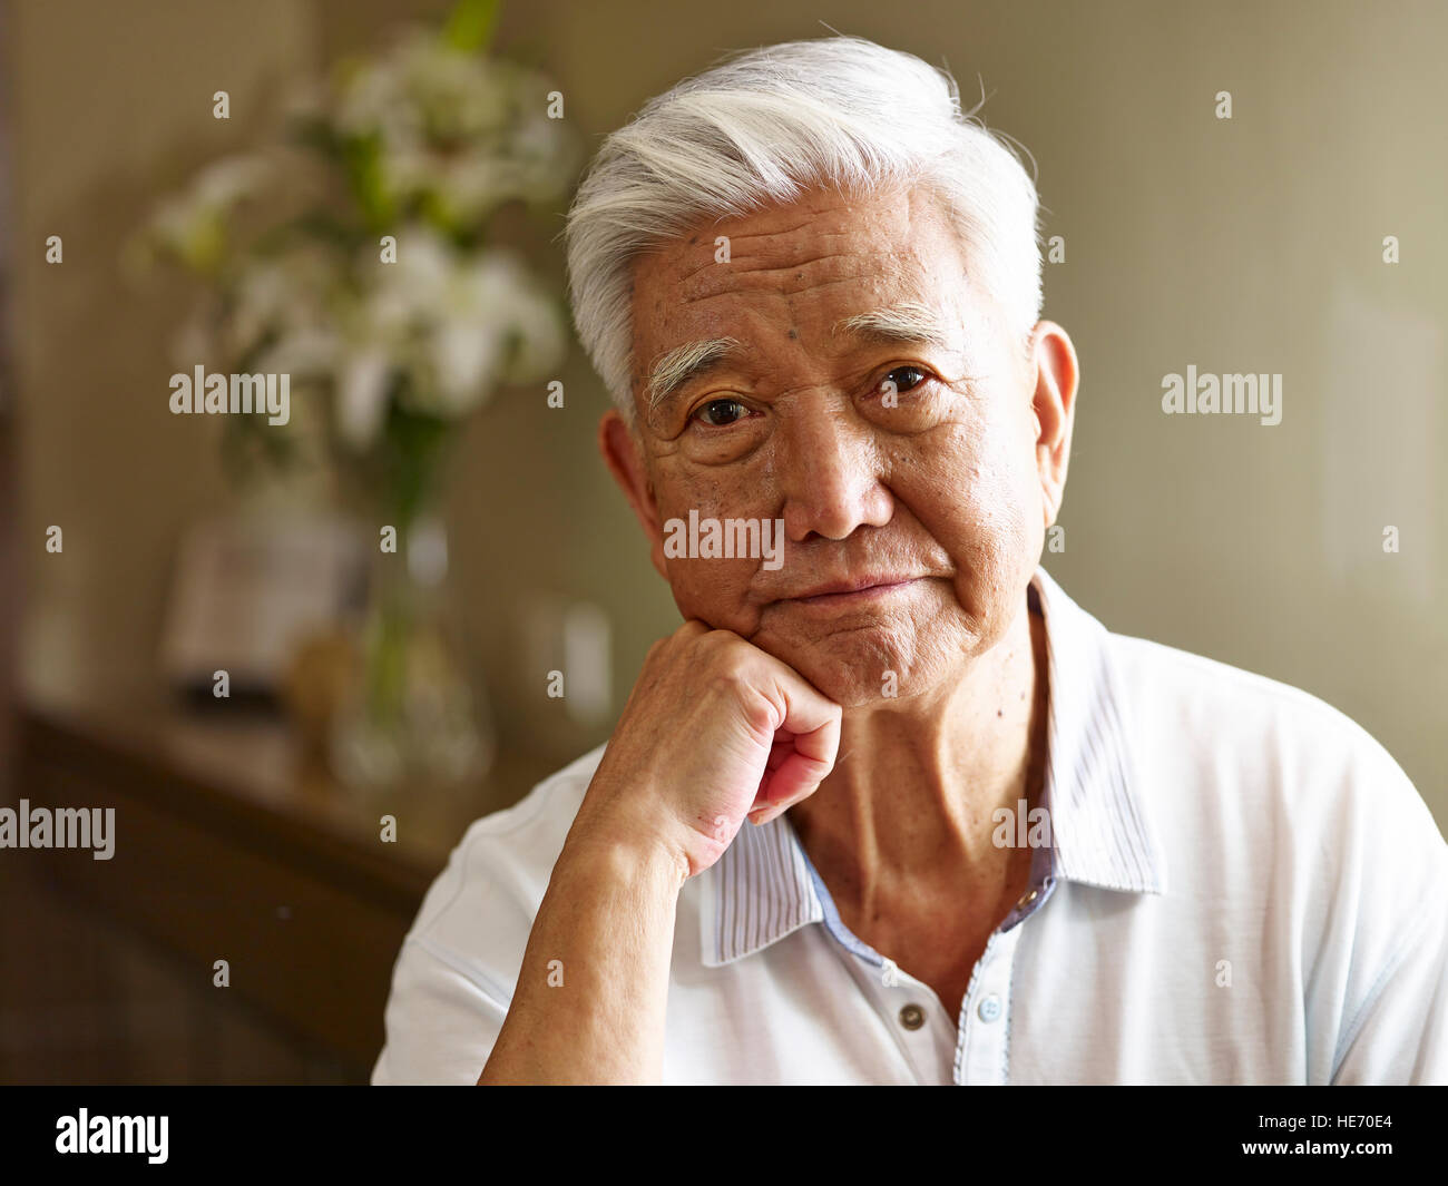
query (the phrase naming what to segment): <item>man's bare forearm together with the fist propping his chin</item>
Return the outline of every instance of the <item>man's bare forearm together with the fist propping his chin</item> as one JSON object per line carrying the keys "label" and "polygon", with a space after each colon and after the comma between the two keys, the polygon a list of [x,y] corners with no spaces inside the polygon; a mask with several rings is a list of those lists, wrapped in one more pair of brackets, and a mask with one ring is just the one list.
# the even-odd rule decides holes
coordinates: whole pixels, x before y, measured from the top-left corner
{"label": "man's bare forearm together with the fist propping his chin", "polygon": [[659,1082],[679,889],[746,817],[814,794],[840,717],[728,630],[689,621],[654,643],[553,866],[479,1083]]}

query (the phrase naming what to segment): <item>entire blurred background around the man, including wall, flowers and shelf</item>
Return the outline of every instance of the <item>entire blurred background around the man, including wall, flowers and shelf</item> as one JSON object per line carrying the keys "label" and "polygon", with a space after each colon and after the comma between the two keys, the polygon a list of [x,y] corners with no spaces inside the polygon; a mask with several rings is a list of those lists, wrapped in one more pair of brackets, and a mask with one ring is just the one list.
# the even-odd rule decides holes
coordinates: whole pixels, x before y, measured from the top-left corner
{"label": "entire blurred background around the man, including wall, flowers and shelf", "polygon": [[[1051,573],[1448,820],[1444,6],[12,0],[0,804],[116,846],[0,850],[0,1080],[365,1082],[447,851],[678,624],[595,453],[572,188],[830,29],[1034,156],[1083,371]],[[1280,374],[1281,423],[1163,416],[1189,365]],[[195,368],[290,374],[288,423],[175,414]]]}

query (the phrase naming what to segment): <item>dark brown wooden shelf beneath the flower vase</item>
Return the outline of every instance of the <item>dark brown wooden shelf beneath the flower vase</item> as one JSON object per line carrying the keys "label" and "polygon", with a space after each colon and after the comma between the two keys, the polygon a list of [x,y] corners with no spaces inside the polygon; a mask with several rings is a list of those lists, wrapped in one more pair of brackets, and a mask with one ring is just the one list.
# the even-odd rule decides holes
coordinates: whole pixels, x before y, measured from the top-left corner
{"label": "dark brown wooden shelf beneath the flower vase", "polygon": [[[32,807],[114,808],[114,856],[36,851],[48,880],[365,1082],[427,886],[469,823],[559,765],[502,750],[463,791],[361,795],[308,767],[282,721],[74,698],[22,707],[14,794]],[[395,843],[379,837],[384,814]],[[213,988],[222,959],[230,986]]]}

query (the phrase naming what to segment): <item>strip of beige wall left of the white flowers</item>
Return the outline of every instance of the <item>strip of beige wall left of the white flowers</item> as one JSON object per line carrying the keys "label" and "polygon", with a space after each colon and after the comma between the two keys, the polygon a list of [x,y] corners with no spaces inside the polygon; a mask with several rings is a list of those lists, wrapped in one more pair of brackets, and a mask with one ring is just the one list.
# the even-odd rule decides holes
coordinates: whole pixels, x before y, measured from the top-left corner
{"label": "strip of beige wall left of the white flowers", "polygon": [[[214,453],[164,398],[187,290],[138,295],[120,245],[158,193],[243,146],[316,36],[306,6],[277,0],[28,0],[12,17],[22,676],[119,694],[151,678],[178,531],[226,492]],[[217,90],[229,122],[211,117]],[[51,235],[58,265],[45,262]],[[61,555],[45,552],[49,524]]]}

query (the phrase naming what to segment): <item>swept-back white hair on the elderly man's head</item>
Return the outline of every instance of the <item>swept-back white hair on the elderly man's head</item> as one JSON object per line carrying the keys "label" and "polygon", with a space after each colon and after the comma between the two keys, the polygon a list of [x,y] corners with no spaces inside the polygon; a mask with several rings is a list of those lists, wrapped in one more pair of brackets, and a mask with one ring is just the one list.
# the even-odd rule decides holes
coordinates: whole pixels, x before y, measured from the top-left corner
{"label": "swept-back white hair on the elderly man's head", "polygon": [[961,112],[947,71],[851,36],[753,49],[652,98],[599,146],[565,230],[573,321],[628,424],[634,258],[811,188],[924,185],[1024,349],[1041,311],[1038,198],[1003,140]]}

